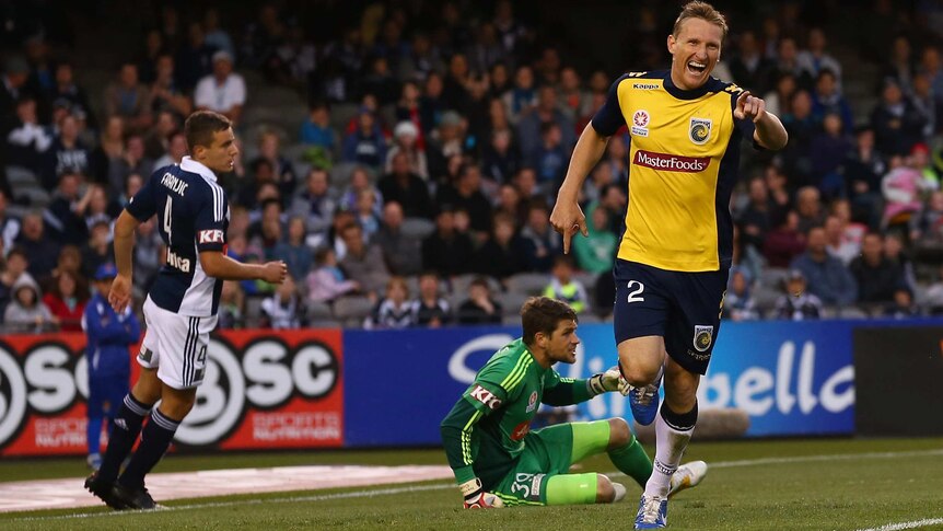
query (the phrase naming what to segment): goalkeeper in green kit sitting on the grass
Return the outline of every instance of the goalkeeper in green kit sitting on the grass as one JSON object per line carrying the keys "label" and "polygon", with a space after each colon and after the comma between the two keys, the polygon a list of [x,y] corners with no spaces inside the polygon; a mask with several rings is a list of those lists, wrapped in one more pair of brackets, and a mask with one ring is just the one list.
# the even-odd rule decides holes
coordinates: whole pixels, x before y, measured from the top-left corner
{"label": "goalkeeper in green kit sitting on the grass", "polygon": [[[603,474],[569,474],[570,465],[607,452],[616,469],[644,487],[652,461],[621,418],[567,423],[531,431],[542,403],[562,406],[630,386],[617,368],[585,380],[561,378],[554,363],[575,361],[577,314],[563,302],[535,297],[521,309],[524,335],[498,350],[442,420],[449,464],[465,508],[608,504],[626,487]],[[671,494],[700,483],[695,461],[672,476]]]}

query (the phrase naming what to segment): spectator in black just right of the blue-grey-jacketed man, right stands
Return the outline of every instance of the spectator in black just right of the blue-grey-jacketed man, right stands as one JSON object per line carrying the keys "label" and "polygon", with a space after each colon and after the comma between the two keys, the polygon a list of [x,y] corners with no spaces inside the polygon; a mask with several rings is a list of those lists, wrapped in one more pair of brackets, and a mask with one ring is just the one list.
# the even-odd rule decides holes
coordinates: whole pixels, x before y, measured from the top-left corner
{"label": "spectator in black just right of the blue-grey-jacketed man, right stands", "polygon": [[861,256],[849,268],[858,281],[858,302],[862,304],[888,304],[894,301],[895,290],[907,288],[900,265],[884,255],[884,236],[880,233],[865,234]]}

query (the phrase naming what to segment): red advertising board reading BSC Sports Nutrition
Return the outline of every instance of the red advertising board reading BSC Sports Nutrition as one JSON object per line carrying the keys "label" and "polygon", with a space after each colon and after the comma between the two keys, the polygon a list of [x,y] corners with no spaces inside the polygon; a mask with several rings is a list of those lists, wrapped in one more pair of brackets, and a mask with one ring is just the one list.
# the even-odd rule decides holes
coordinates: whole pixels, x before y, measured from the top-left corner
{"label": "red advertising board reading BSC Sports Nutrition", "polygon": [[[0,338],[0,455],[85,453],[84,346],[79,333]],[[213,334],[207,374],[176,446],[342,446],[342,361],[340,330]],[[131,367],[133,379],[138,365]]]}

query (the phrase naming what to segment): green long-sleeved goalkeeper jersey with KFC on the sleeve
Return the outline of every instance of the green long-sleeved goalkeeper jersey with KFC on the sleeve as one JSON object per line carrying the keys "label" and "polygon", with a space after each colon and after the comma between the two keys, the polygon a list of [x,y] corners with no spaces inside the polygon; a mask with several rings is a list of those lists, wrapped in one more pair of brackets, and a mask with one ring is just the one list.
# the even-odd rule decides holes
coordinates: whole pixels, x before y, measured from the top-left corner
{"label": "green long-sleeved goalkeeper jersey with KFC on the sleeve", "polygon": [[534,359],[522,339],[498,350],[442,420],[442,442],[461,484],[498,484],[526,445],[542,403],[577,404],[593,396],[586,380],[561,378]]}

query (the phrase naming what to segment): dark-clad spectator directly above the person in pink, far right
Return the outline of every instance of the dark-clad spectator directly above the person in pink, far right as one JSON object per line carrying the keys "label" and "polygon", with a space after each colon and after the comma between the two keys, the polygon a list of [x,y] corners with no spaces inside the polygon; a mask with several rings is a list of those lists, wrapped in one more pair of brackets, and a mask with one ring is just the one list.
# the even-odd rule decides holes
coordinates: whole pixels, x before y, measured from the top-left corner
{"label": "dark-clad spectator directly above the person in pink, far right", "polygon": [[923,141],[925,118],[893,78],[884,80],[881,101],[871,112],[877,150],[887,157],[904,155]]}

